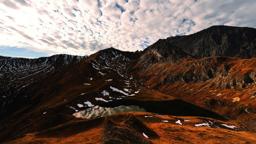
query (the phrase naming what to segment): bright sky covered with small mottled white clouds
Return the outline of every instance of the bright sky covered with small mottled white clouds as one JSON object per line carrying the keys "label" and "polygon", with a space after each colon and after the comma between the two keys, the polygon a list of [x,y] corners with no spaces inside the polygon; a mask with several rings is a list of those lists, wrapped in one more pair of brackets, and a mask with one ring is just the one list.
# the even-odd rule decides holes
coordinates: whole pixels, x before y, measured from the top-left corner
{"label": "bright sky covered with small mottled white clouds", "polygon": [[255,0],[0,0],[0,55],[143,51],[214,25],[256,28]]}

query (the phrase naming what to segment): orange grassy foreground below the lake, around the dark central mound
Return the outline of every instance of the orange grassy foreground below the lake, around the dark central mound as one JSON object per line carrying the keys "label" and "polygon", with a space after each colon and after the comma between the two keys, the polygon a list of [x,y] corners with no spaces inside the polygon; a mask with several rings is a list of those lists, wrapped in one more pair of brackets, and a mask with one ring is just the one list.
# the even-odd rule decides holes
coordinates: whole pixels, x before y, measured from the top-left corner
{"label": "orange grassy foreground below the lake, around the dark central mound", "polygon": [[[125,116],[134,114],[141,122],[155,131],[159,138],[151,139],[153,143],[254,143],[256,134],[232,129],[195,127],[211,118],[157,116],[154,113],[128,112],[106,116],[93,120],[76,119],[67,124],[52,127],[42,132],[29,133],[18,140],[6,143],[100,143],[104,134],[104,125],[108,120],[124,122]],[[154,118],[145,117],[150,115]],[[168,120],[163,122],[162,120]],[[180,120],[182,125],[176,124]],[[184,120],[189,120],[184,122]],[[233,122],[216,121],[219,124],[236,125]],[[216,123],[216,124],[217,124]]]}

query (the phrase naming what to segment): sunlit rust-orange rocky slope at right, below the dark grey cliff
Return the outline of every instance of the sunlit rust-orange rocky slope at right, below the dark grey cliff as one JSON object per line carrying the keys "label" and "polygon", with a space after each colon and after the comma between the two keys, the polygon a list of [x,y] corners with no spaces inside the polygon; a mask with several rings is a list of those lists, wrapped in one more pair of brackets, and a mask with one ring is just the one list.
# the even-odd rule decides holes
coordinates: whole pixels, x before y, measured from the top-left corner
{"label": "sunlit rust-orange rocky slope at right, below the dark grey cliff", "polygon": [[176,65],[156,63],[141,69],[138,81],[167,95],[237,118],[256,112],[255,71],[255,58],[213,57]]}

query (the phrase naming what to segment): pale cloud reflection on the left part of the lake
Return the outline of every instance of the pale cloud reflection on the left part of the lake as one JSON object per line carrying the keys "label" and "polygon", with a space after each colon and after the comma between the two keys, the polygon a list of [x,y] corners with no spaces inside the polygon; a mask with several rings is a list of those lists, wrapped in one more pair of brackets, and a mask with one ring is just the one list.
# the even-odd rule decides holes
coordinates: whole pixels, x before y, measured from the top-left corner
{"label": "pale cloud reflection on the left part of the lake", "polygon": [[85,109],[83,111],[78,111],[73,115],[77,118],[97,118],[107,115],[113,115],[115,113],[122,113],[128,111],[146,111],[144,108],[139,106],[117,106],[115,108],[104,108],[101,106],[93,106],[92,108]]}

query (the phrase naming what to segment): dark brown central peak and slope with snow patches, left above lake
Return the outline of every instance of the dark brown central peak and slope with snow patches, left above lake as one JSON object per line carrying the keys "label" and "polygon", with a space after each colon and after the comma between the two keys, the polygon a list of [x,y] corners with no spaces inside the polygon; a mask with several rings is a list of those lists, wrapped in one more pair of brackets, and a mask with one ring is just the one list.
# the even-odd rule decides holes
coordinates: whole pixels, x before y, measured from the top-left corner
{"label": "dark brown central peak and slope with snow patches, left above lake", "polygon": [[[33,83],[24,86],[20,92],[15,90],[13,95],[1,98],[3,101],[10,99],[1,110],[1,140],[68,122],[74,119],[73,113],[90,108],[91,104],[134,95],[140,99],[159,99],[157,95],[163,95],[159,92],[154,92],[152,97],[143,95],[145,90],[133,78],[131,68],[139,56],[136,52],[110,48],[67,65],[62,63],[54,67],[58,65],[54,62],[40,67],[44,70],[42,73],[40,68],[33,72],[34,66],[28,66],[26,70],[33,74],[28,77],[35,79]],[[48,72],[48,67],[50,70],[54,68]],[[4,77],[2,81],[5,81]]]}

